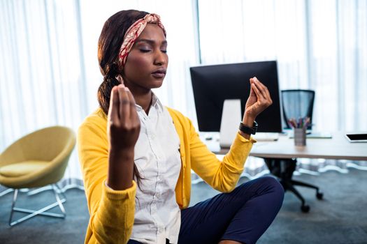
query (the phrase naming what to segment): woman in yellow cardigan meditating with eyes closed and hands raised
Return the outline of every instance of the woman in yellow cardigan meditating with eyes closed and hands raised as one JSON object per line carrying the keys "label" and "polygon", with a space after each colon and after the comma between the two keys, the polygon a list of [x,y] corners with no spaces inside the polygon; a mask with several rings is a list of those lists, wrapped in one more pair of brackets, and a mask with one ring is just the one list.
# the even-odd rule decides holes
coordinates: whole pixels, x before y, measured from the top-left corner
{"label": "woman in yellow cardigan meditating with eyes closed and hands raised", "polygon": [[[191,121],[154,96],[168,66],[159,16],[115,13],[98,48],[100,108],[78,131],[90,213],[85,243],[255,243],[282,205],[282,186],[264,177],[235,189],[254,139],[239,131],[217,160]],[[250,86],[243,118],[249,128],[271,105],[259,80]],[[229,193],[188,208],[191,169]]]}

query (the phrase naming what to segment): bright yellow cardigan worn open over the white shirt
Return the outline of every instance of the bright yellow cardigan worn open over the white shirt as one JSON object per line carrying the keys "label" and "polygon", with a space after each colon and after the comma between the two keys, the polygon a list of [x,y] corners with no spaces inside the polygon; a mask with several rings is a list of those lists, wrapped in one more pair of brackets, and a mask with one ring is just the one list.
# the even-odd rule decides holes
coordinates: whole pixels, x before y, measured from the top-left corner
{"label": "bright yellow cardigan worn open over the white shirt", "polygon": [[[254,139],[239,133],[223,160],[217,159],[199,139],[192,122],[167,108],[180,137],[181,170],[175,187],[180,208],[190,201],[191,169],[220,192],[230,192],[243,171]],[[101,109],[89,115],[78,130],[78,154],[82,167],[89,224],[85,243],[127,243],[134,224],[136,183],[126,190],[106,187],[108,171],[107,117]]]}

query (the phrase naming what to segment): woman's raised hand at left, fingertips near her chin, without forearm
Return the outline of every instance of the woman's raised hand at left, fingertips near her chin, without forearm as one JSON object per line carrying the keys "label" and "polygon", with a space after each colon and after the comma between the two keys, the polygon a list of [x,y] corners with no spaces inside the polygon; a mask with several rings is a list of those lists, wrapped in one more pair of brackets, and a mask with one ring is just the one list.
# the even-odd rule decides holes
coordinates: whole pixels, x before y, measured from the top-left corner
{"label": "woman's raised hand at left, fingertips near her chin, without forearm", "polygon": [[110,150],[134,151],[140,128],[134,96],[124,84],[113,87],[107,125]]}

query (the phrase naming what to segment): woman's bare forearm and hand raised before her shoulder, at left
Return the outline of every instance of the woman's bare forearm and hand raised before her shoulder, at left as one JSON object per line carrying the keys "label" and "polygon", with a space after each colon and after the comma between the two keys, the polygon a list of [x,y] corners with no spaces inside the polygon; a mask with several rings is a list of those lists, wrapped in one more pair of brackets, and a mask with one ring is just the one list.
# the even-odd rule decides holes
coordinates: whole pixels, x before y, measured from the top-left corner
{"label": "woman's bare forearm and hand raised before her shoulder, at left", "polygon": [[114,190],[130,188],[134,177],[134,147],[141,123],[134,96],[122,84],[113,87],[108,109],[108,176],[107,185]]}

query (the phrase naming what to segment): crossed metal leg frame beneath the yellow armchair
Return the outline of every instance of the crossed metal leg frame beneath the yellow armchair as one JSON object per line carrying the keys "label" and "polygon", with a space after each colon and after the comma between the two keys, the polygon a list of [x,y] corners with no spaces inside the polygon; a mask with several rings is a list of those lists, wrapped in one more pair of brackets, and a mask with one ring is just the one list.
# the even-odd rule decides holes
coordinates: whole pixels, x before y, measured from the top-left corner
{"label": "crossed metal leg frame beneath the yellow armchair", "polygon": [[[44,216],[55,217],[55,218],[65,218],[66,211],[62,204],[66,202],[66,197],[64,196],[64,194],[62,194],[64,198],[60,199],[59,192],[57,192],[56,188],[57,188],[57,185],[56,186],[52,185],[52,190],[54,191],[56,202],[48,206],[45,206],[44,208],[38,209],[37,211],[31,210],[31,209],[25,209],[25,208],[15,208],[15,201],[17,200],[17,192],[18,192],[18,190],[15,189],[13,204],[12,204],[11,212],[10,212],[9,225],[14,226],[15,224],[19,224],[20,222],[28,220],[29,218],[32,218],[36,215],[44,215]],[[59,206],[60,210],[62,211],[62,214],[46,212],[50,210],[51,208],[55,208],[55,206]],[[22,213],[30,213],[30,214],[27,216],[24,216],[23,218],[20,218],[19,220],[15,220],[14,222],[12,222],[14,211],[22,212]]]}

